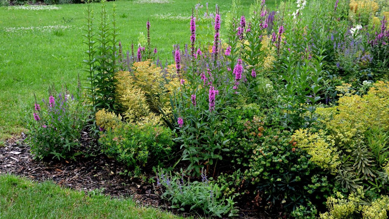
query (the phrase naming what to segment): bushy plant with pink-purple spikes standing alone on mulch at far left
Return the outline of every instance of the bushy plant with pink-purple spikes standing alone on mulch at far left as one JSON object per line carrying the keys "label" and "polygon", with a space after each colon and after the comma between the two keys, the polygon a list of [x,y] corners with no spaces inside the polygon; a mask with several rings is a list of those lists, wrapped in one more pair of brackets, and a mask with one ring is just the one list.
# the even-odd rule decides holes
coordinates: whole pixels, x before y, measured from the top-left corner
{"label": "bushy plant with pink-purple spikes standing alone on mulch at far left", "polygon": [[51,88],[48,99],[35,100],[27,118],[27,142],[35,159],[67,159],[78,154],[80,132],[89,116],[80,91],[79,87],[73,95],[66,88],[60,92]]}

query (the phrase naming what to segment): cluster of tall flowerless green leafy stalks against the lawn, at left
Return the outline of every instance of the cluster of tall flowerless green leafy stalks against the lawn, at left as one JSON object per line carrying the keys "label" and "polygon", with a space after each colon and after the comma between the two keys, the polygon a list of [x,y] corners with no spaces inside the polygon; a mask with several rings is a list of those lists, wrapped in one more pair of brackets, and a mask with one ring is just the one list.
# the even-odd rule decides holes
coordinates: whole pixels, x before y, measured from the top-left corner
{"label": "cluster of tall flowerless green leafy stalks against the lawn, at left", "polygon": [[84,44],[87,45],[88,50],[84,52],[87,59],[83,63],[86,65],[84,71],[89,74],[86,79],[88,85],[85,87],[88,90],[88,100],[94,112],[102,108],[116,111],[114,75],[120,67],[117,54],[119,34],[116,25],[116,5],[112,9],[112,19],[109,20],[107,4],[101,3],[98,24],[95,22],[95,14],[90,2],[86,5],[87,24],[84,29],[86,32]]}

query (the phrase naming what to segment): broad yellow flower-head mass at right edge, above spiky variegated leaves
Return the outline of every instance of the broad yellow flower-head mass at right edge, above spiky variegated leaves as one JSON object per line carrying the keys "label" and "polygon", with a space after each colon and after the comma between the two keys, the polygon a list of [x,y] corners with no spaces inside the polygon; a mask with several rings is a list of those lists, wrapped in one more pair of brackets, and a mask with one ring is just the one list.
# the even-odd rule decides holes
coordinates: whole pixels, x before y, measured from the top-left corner
{"label": "broad yellow flower-head mass at right edge, above spiky variegated leaves", "polygon": [[378,81],[368,94],[340,97],[338,106],[317,108],[319,121],[337,146],[350,145],[368,127],[389,129],[389,83]]}

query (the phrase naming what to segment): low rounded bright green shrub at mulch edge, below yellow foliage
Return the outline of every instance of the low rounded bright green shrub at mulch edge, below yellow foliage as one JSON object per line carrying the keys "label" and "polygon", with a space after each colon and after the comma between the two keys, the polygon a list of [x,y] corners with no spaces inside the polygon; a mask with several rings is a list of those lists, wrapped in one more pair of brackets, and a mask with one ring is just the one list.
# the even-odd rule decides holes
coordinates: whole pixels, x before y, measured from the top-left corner
{"label": "low rounded bright green shrub at mulch edge, below yellow foliage", "polygon": [[102,151],[135,169],[158,165],[171,155],[173,140],[170,129],[151,124],[121,124],[100,136]]}

